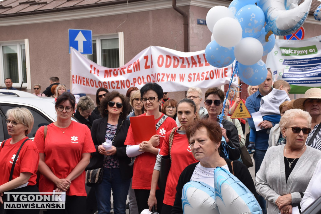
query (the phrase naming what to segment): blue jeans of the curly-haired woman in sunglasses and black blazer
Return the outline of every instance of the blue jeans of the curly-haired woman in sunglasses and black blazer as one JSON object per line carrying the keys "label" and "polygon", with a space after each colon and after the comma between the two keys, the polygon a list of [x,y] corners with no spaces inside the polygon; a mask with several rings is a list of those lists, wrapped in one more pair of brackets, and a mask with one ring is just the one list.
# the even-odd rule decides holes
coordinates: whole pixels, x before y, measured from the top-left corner
{"label": "blue jeans of the curly-haired woman in sunglasses and black blazer", "polygon": [[129,189],[130,179],[121,178],[119,168],[104,168],[101,184],[94,186],[99,214],[110,213],[110,194],[113,190],[114,213],[126,213],[126,199]]}

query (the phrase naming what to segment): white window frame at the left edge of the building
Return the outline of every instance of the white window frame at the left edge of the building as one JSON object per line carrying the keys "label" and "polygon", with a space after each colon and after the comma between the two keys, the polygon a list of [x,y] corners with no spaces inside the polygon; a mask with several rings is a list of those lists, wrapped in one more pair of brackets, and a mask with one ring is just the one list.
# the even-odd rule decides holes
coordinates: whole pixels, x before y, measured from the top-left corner
{"label": "white window frame at the left edge of the building", "polygon": [[25,46],[25,55],[26,55],[26,81],[22,83],[22,88],[31,89],[31,78],[30,78],[30,55],[29,55],[29,39],[17,40],[17,41],[5,41],[0,42],[0,79],[1,79],[1,88],[6,87],[4,84],[4,61],[3,61],[3,46],[16,45],[17,46],[17,56],[18,56],[18,74],[19,82],[13,83],[14,88],[20,89],[23,73],[22,73],[22,58],[21,58],[21,45]]}

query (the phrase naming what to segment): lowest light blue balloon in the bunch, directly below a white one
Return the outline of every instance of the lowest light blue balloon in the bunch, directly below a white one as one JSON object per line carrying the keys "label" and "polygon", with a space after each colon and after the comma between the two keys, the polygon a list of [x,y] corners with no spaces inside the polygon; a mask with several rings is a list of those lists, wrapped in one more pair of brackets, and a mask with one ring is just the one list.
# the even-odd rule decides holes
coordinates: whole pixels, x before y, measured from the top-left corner
{"label": "lowest light blue balloon in the bunch, directly below a white one", "polygon": [[267,76],[267,67],[262,60],[253,65],[238,63],[237,69],[240,80],[247,85],[259,85]]}

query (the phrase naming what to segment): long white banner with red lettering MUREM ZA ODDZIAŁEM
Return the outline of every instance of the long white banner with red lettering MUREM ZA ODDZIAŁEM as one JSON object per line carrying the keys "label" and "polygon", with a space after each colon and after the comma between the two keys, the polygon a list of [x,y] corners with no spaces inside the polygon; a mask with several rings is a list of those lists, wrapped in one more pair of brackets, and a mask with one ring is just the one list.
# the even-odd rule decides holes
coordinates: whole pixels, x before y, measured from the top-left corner
{"label": "long white banner with red lettering MUREM ZA ODDZIA\u0141EM", "polygon": [[183,91],[189,87],[220,87],[229,84],[232,65],[215,68],[205,59],[204,50],[184,53],[150,46],[120,68],[100,66],[71,48],[72,92],[96,94],[98,88],[126,94],[130,87],[158,83],[164,91]]}

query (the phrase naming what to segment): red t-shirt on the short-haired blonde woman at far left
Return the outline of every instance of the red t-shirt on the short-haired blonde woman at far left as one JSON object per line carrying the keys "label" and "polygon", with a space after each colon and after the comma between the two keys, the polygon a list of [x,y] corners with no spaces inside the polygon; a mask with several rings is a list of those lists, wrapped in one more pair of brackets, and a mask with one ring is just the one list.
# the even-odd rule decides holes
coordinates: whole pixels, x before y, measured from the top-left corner
{"label": "red t-shirt on the short-haired blonde woman at far left", "polygon": [[[15,144],[10,144],[12,138],[5,141],[2,148],[0,146],[0,185],[5,184],[9,181],[11,167],[13,160],[19,150],[22,142],[26,140],[27,137],[23,138],[21,141]],[[3,142],[2,142],[3,143]],[[36,185],[37,170],[39,163],[39,152],[35,143],[31,140],[26,141],[17,158],[16,164],[14,165],[12,180],[19,177],[22,172],[30,172],[32,175],[28,180],[28,186]]]}

